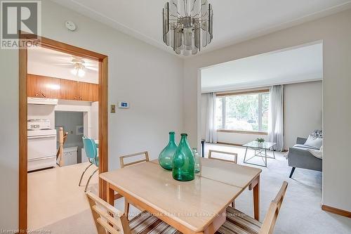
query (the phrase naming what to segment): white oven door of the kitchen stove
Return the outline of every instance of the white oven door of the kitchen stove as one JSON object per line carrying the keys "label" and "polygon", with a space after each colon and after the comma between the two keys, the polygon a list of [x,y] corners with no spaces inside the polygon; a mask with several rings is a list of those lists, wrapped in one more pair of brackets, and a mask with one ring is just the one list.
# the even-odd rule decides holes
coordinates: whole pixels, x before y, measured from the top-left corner
{"label": "white oven door of the kitchen stove", "polygon": [[56,155],[56,135],[28,136],[28,160]]}

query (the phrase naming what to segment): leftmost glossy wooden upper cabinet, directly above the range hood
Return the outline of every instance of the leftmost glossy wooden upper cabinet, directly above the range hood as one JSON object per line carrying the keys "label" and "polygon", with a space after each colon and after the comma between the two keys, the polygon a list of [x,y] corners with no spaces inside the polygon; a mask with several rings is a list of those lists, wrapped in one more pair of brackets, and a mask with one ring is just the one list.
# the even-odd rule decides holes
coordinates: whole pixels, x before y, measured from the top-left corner
{"label": "leftmost glossy wooden upper cabinet, directly above the range hood", "polygon": [[27,96],[34,98],[60,98],[60,79],[28,74]]}

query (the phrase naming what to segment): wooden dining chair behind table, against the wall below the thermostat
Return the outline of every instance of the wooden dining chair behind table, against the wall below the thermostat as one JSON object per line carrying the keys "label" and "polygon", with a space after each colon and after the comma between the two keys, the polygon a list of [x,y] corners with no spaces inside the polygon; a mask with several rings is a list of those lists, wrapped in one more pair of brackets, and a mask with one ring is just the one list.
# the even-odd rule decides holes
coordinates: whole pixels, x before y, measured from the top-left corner
{"label": "wooden dining chair behind table, against the wall below the thermostat", "polygon": [[[140,157],[140,156],[142,156],[142,157]],[[125,162],[126,160],[128,160],[128,162]],[[137,153],[132,154],[132,155],[124,155],[124,156],[119,157],[119,161],[121,162],[121,168],[130,167],[130,166],[133,166],[135,164],[140,164],[143,162],[150,162],[149,153],[147,151],[145,151],[145,152],[137,152]],[[117,197],[117,196],[118,195],[114,195],[114,197]],[[128,202],[128,200],[126,200],[126,198],[124,198],[124,212],[126,214],[127,219],[128,219],[128,213],[129,213],[129,204],[130,204],[130,202]],[[143,211],[143,209],[138,207],[138,205],[133,204],[133,206],[137,207],[138,209]]]}

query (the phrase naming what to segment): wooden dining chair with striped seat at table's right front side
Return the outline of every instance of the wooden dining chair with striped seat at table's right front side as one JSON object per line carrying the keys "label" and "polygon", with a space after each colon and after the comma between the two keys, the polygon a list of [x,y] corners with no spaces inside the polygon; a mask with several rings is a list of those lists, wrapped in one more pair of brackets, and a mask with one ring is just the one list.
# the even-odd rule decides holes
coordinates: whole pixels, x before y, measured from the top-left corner
{"label": "wooden dining chair with striped seat at table's right front side", "polygon": [[277,197],[270,203],[270,208],[263,223],[240,212],[233,207],[227,207],[227,218],[223,226],[217,230],[220,234],[272,234],[277,222],[280,208],[284,200],[288,182],[284,181]]}

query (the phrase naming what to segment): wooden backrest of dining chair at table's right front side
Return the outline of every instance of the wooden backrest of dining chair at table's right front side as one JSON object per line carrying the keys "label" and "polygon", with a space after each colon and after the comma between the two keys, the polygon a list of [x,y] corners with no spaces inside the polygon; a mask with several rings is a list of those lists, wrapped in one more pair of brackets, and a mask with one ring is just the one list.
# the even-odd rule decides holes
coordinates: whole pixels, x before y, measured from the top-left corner
{"label": "wooden backrest of dining chair at table's right front side", "polygon": [[277,197],[270,202],[270,208],[268,209],[267,214],[265,215],[265,220],[260,228],[259,234],[272,234],[274,230],[275,223],[277,222],[278,214],[280,207],[284,200],[286,193],[286,188],[288,188],[288,182],[284,181],[282,188],[280,188]]}

